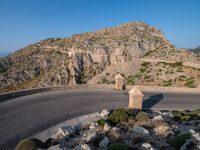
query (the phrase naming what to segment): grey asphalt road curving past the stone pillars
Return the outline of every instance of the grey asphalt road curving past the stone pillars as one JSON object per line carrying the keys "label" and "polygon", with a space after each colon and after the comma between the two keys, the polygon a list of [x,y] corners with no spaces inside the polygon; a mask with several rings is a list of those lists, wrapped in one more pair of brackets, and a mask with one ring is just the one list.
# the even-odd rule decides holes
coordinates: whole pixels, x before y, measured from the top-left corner
{"label": "grey asphalt road curving past the stone pillars", "polygon": [[[127,92],[101,89],[51,91],[0,102],[0,150],[76,116],[128,106]],[[144,92],[144,109],[197,109],[200,94]]]}

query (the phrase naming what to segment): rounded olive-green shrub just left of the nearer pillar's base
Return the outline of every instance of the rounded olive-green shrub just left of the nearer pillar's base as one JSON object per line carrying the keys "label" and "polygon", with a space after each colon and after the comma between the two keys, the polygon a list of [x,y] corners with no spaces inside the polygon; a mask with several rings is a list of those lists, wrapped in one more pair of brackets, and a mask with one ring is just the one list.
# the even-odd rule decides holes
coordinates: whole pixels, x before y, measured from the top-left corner
{"label": "rounded olive-green shrub just left of the nearer pillar's base", "polygon": [[118,124],[129,119],[128,110],[124,108],[115,109],[108,116],[108,121],[111,124]]}

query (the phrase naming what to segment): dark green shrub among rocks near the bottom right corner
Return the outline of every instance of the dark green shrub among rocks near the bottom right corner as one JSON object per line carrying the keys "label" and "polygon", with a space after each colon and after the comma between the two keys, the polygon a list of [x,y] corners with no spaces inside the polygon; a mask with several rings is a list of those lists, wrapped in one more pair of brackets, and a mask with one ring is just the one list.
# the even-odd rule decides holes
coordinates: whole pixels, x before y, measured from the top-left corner
{"label": "dark green shrub among rocks near the bottom right corner", "polygon": [[176,149],[180,149],[180,147],[190,138],[192,138],[191,133],[183,133],[171,138],[168,143]]}

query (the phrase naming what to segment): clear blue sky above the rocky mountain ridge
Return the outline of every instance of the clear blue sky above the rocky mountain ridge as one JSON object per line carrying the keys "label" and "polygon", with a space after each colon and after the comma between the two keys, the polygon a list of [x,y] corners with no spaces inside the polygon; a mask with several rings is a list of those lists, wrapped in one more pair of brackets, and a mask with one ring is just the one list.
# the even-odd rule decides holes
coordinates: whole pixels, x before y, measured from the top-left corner
{"label": "clear blue sky above the rocky mountain ridge", "polygon": [[158,27],[177,47],[200,45],[200,0],[0,0],[0,52],[130,21]]}

